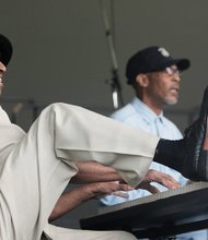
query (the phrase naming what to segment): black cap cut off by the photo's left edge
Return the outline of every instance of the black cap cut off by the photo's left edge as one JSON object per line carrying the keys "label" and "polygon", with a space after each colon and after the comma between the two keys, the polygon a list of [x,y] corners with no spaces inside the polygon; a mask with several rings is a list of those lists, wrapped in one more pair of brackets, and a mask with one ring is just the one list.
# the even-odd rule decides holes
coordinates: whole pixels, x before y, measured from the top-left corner
{"label": "black cap cut off by the photo's left edge", "polygon": [[12,57],[13,48],[10,40],[0,34],[0,61],[7,65]]}

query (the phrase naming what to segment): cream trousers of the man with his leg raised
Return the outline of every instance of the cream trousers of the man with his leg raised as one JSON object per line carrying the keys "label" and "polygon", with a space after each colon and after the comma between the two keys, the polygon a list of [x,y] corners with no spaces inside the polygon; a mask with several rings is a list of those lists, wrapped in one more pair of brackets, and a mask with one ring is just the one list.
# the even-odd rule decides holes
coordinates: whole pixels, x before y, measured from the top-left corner
{"label": "cream trousers of the man with his leg raised", "polygon": [[[0,239],[39,240],[43,231],[54,240],[123,239],[115,231],[82,235],[83,230],[51,227],[47,219],[78,171],[76,160],[111,166],[137,185],[152,161],[158,141],[86,109],[50,105],[27,134],[20,134],[15,144],[8,144],[0,153],[4,163],[0,168]],[[134,238],[126,233],[125,239]]]}

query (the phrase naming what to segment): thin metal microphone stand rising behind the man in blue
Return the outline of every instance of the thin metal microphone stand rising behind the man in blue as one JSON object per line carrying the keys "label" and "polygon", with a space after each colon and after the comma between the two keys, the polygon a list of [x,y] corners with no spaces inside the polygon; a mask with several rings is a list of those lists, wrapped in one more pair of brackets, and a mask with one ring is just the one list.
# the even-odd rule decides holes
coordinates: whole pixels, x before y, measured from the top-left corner
{"label": "thin metal microphone stand rising behind the man in blue", "polygon": [[118,76],[118,64],[116,60],[116,53],[114,50],[114,44],[112,39],[112,33],[107,21],[107,15],[105,11],[105,7],[103,3],[103,0],[100,0],[101,9],[103,13],[103,21],[105,26],[105,35],[107,38],[109,55],[112,59],[112,80],[109,82],[111,88],[112,88],[112,99],[113,99],[113,107],[114,109],[118,109],[124,105],[123,97],[122,97],[122,87],[119,83],[119,76]]}

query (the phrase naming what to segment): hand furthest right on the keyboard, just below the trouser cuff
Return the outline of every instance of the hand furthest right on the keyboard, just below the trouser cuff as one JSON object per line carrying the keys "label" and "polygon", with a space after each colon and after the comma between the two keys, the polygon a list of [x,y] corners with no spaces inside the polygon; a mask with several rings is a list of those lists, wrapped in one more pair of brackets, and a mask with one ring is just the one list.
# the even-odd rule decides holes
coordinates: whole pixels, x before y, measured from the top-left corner
{"label": "hand furthest right on the keyboard, just below the trouser cuff", "polygon": [[167,189],[178,189],[181,187],[180,182],[170,175],[149,169],[143,181],[136,189],[145,189],[151,193],[160,192],[155,187],[151,185],[151,182],[158,182]]}

